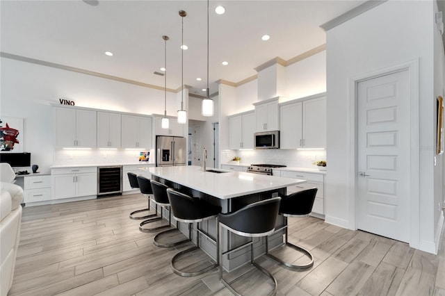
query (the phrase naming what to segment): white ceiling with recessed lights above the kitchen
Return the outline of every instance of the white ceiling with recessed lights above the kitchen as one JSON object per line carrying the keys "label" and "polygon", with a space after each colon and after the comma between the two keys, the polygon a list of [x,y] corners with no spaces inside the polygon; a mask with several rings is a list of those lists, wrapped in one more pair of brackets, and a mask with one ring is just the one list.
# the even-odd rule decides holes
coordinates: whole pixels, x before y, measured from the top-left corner
{"label": "white ceiling with recessed lights above the kitchen", "polygon": [[[364,1],[216,1],[209,3],[209,83],[237,83],[275,57],[289,60],[325,43],[319,26]],[[224,15],[215,8],[225,6]],[[204,95],[207,85],[207,1],[6,1],[0,2],[3,53],[86,69],[163,88],[181,85],[181,17],[184,17],[184,84]],[[261,36],[270,35],[262,41]],[[106,56],[104,51],[113,52]],[[221,62],[229,65],[223,66]],[[196,78],[202,78],[197,81]]]}

